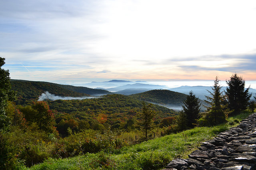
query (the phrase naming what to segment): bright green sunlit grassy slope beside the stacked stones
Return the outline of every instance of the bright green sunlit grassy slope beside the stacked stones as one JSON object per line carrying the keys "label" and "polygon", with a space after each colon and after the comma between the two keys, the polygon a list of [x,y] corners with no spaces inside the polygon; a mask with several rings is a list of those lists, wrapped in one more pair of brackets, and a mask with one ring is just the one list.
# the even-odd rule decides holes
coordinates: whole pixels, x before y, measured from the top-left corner
{"label": "bright green sunlit grassy slope beside the stacked stones", "polygon": [[[244,119],[250,113],[246,112],[230,120]],[[236,124],[237,125],[237,124]],[[233,125],[233,126],[236,126]],[[35,165],[31,170],[43,169],[118,169],[142,170],[160,169],[176,157],[186,158],[195,150],[200,142],[211,139],[216,134],[230,128],[228,124],[214,127],[196,127],[181,133],[166,135],[138,145],[124,147],[119,154],[86,154],[66,159],[48,159],[42,164]],[[104,162],[106,163],[104,165]]]}

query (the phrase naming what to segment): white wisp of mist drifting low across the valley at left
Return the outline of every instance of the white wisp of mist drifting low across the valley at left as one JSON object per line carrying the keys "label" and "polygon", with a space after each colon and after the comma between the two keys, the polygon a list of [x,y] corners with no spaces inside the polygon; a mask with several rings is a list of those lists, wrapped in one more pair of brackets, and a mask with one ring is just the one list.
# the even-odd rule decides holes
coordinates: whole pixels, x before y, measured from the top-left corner
{"label": "white wisp of mist drifting low across the valley at left", "polygon": [[56,96],[54,94],[50,94],[49,92],[44,92],[41,94],[41,96],[39,96],[38,101],[43,101],[46,99],[49,100],[83,100],[83,99],[91,99],[91,98],[96,98],[96,97],[88,97],[88,96],[84,96],[84,97],[64,97],[64,96]]}

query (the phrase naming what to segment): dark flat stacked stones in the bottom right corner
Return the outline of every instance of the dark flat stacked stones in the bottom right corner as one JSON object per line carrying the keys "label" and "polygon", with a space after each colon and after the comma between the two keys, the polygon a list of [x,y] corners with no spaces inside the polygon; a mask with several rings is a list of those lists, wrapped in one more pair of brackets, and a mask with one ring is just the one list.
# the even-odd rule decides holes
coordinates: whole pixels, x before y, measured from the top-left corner
{"label": "dark flat stacked stones in the bottom right corner", "polygon": [[172,160],[164,170],[256,170],[256,113],[201,143],[188,157]]}

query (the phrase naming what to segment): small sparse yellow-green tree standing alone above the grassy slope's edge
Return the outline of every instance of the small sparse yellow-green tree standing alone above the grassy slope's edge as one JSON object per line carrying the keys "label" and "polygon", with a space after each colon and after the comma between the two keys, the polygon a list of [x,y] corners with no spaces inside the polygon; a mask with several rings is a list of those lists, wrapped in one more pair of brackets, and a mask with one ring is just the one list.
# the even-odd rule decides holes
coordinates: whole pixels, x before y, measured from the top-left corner
{"label": "small sparse yellow-green tree standing alone above the grassy slope's edge", "polygon": [[156,116],[157,112],[153,111],[151,107],[152,104],[146,105],[143,103],[142,111],[138,113],[138,123],[142,131],[145,132],[146,139],[148,139],[148,132],[155,127],[153,118]]}

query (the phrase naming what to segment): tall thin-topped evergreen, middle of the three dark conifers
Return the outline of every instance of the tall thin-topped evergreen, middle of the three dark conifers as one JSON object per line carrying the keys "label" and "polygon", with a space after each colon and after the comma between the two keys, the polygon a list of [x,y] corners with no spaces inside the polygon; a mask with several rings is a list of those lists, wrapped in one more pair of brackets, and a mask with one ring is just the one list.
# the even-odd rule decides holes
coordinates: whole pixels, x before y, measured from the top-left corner
{"label": "tall thin-topped evergreen, middle of the three dark conifers", "polygon": [[227,111],[225,110],[225,106],[223,104],[224,97],[222,96],[221,86],[219,85],[220,80],[216,76],[214,80],[214,86],[212,87],[212,91],[208,92],[211,96],[205,96],[207,100],[204,100],[209,107],[206,111],[206,121],[208,125],[218,125],[220,123],[226,122]]}

